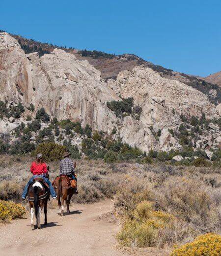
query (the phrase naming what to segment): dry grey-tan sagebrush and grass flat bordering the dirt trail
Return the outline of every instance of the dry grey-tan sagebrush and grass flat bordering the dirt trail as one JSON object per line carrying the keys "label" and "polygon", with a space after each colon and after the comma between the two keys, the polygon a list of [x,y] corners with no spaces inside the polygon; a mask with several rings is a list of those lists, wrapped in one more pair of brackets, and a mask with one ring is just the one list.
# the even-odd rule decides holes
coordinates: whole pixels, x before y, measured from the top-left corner
{"label": "dry grey-tan sagebrush and grass flat bordering the dirt trail", "polygon": [[[20,201],[22,189],[31,177],[31,160],[1,156],[0,199]],[[53,180],[58,175],[59,162],[49,165]],[[144,241],[140,242],[142,246],[148,241],[149,245],[165,248],[191,242],[203,233],[221,233],[220,169],[165,164],[109,165],[102,160],[78,160],[76,172],[79,194],[73,196],[72,202],[93,203],[105,197],[114,198],[115,215],[123,228],[128,221],[138,221],[136,209],[141,201],[151,202],[154,212],[174,216],[168,224],[151,230],[152,240],[150,228],[142,224],[146,231],[141,228],[137,232]],[[136,239],[128,241],[128,245],[138,245]]]}

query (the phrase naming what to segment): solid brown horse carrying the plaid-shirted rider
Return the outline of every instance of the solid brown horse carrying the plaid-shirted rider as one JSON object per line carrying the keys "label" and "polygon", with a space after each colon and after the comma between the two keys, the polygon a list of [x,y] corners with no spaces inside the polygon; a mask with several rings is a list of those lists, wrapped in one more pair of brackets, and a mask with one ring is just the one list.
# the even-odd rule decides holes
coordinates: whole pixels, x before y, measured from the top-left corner
{"label": "solid brown horse carrying the plaid-shirted rider", "polygon": [[[76,162],[74,163],[74,167],[76,167]],[[67,205],[67,214],[68,214],[70,213],[69,205],[70,205],[71,197],[74,193],[74,189],[70,186],[70,181],[66,175],[60,175],[56,177],[52,184],[57,194],[59,213],[61,216],[64,216],[64,201],[66,202],[66,205]],[[60,201],[60,197],[62,197],[61,201]]]}

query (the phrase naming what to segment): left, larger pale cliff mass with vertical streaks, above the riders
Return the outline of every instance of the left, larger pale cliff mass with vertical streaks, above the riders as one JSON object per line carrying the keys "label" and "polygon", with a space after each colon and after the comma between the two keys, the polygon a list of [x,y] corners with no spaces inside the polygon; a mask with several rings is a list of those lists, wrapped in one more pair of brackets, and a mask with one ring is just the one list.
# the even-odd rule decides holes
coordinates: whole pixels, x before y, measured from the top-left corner
{"label": "left, larger pale cliff mass with vertical streaks, above the riders", "polygon": [[100,78],[100,71],[73,54],[55,49],[39,58],[25,54],[7,33],[0,34],[0,99],[32,102],[58,119],[79,120],[111,131],[115,115],[106,106],[119,97]]}

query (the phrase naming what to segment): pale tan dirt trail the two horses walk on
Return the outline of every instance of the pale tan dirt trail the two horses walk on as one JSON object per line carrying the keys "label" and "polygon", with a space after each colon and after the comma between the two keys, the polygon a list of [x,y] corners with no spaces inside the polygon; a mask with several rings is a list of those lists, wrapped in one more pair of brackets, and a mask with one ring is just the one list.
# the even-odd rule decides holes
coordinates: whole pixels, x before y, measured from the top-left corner
{"label": "pale tan dirt trail the two horses walk on", "polygon": [[[61,217],[48,209],[48,226],[31,230],[30,216],[0,226],[2,256],[127,256],[116,249],[117,226],[100,215],[113,209],[111,200],[70,207],[71,214]],[[41,214],[41,224],[44,223]],[[35,222],[34,222],[35,223]]]}

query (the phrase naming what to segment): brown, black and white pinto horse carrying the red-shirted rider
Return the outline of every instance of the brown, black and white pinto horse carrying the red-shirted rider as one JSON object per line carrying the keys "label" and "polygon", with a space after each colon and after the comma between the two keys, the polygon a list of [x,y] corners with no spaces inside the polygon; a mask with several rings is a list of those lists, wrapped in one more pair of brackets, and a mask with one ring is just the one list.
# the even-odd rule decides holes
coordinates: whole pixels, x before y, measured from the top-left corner
{"label": "brown, black and white pinto horse carrying the red-shirted rider", "polygon": [[34,214],[36,217],[36,226],[38,229],[41,228],[40,224],[40,211],[44,207],[45,222],[47,225],[47,204],[49,199],[48,188],[43,183],[42,178],[34,179],[34,182],[28,188],[28,201],[31,212],[31,229],[34,230]]}

